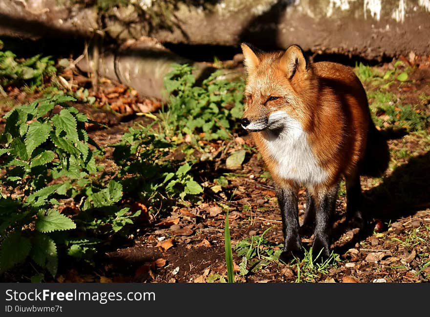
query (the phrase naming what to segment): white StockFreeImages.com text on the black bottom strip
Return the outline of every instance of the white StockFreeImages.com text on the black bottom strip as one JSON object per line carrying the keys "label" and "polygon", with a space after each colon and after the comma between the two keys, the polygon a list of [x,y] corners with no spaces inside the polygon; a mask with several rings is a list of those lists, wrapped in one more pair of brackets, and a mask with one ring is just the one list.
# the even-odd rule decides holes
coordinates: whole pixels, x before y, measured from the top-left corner
{"label": "white StockFreeImages.com text on the black bottom strip", "polygon": [[34,291],[14,291],[6,290],[6,301],[93,301],[100,304],[106,304],[110,301],[155,301],[154,292],[88,292],[88,291],[51,291],[37,290]]}

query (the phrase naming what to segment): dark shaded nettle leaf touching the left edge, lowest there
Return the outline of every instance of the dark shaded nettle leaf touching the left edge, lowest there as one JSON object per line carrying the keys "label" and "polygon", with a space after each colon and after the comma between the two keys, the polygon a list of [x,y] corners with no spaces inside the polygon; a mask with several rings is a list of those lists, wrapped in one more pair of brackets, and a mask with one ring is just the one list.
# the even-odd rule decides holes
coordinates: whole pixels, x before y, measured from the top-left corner
{"label": "dark shaded nettle leaf touching the left edge, lowest there", "polygon": [[30,252],[30,241],[15,230],[4,238],[0,249],[0,271],[4,272],[25,260]]}

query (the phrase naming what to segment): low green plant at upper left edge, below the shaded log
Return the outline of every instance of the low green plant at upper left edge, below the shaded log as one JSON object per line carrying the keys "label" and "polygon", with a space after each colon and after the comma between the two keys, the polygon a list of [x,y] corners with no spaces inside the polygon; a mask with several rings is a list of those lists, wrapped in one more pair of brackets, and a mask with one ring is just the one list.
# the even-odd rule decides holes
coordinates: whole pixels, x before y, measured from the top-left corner
{"label": "low green plant at upper left edge, below the shaded log", "polygon": [[0,47],[0,89],[10,85],[40,87],[57,72],[54,64],[50,56],[42,57],[39,54],[28,59],[17,59],[13,52],[2,51]]}

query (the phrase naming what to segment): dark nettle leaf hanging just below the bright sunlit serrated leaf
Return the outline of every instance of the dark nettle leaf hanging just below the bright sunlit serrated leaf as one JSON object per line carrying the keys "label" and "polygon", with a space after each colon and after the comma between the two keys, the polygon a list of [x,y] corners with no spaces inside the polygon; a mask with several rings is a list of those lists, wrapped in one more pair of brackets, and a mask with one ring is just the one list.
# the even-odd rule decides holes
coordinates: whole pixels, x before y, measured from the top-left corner
{"label": "dark nettle leaf hanging just below the bright sunlit serrated leaf", "polygon": [[57,246],[46,234],[37,234],[30,253],[31,258],[55,277],[58,269]]}

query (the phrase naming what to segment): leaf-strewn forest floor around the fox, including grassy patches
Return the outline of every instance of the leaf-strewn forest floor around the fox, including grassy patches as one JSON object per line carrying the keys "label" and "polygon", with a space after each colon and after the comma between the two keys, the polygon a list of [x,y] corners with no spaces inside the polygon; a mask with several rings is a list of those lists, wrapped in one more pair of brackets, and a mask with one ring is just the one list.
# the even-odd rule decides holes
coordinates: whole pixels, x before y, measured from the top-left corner
{"label": "leaf-strewn forest floor around the fox, including grassy patches", "polygon": [[[82,263],[60,257],[59,271],[46,282],[224,282],[227,280],[224,224],[229,212],[235,280],[237,282],[428,282],[430,277],[430,62],[408,57],[372,68],[356,68],[366,88],[369,104],[379,107],[378,127],[386,132],[391,154],[381,178],[361,178],[371,225],[345,226],[345,189],[341,184],[333,226],[332,256],[320,262],[304,259],[283,263],[282,226],[274,184],[253,142],[244,131],[233,131],[228,140],[208,141],[216,156],[203,161],[200,179],[204,188],[198,202],[173,205],[169,213],[151,212],[145,222],[132,226],[125,239],[106,241],[94,261]],[[398,77],[406,72],[408,77]],[[85,76],[63,74],[96,97],[106,107],[75,105],[105,127],[90,126],[89,135],[106,149],[100,161],[112,168],[109,145],[121,140],[136,122],[151,118],[135,115],[159,108],[151,99],[103,78],[94,93]],[[384,78],[385,76],[385,78]],[[73,77],[73,79],[72,79]],[[389,81],[391,78],[391,81]],[[384,87],[383,87],[384,86]],[[382,88],[383,87],[383,88]],[[383,89],[383,90],[382,90]],[[383,91],[383,93],[381,92]],[[1,116],[14,104],[38,95],[19,89],[7,92]],[[404,117],[403,113],[412,111]],[[423,121],[424,120],[424,121]],[[4,123],[4,122],[2,122]],[[230,153],[246,150],[243,162],[227,167]],[[207,175],[211,174],[209,178]],[[215,175],[215,176],[214,176]],[[214,180],[225,178],[225,183]],[[218,186],[217,186],[218,185]],[[305,189],[300,190],[299,220],[305,209]],[[148,206],[149,207],[149,206]],[[153,206],[156,210],[158,206]],[[313,237],[303,237],[306,249]],[[32,266],[23,264],[4,274],[5,281],[28,281]]]}

